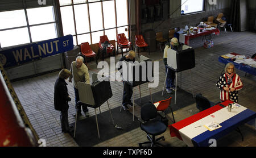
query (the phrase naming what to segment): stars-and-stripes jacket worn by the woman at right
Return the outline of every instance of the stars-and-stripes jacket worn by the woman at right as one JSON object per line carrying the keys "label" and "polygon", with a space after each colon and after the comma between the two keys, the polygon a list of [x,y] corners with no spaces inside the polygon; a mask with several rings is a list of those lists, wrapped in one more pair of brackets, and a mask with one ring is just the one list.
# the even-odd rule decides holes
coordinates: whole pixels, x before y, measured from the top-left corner
{"label": "stars-and-stripes jacket worn by the woman at right", "polygon": [[[238,101],[238,92],[237,91],[242,89],[243,84],[242,84],[240,76],[238,76],[238,74],[236,74],[236,73],[234,74],[234,76],[232,78],[232,82],[230,84],[228,84],[228,76],[226,76],[226,73],[224,73],[224,74],[221,74],[216,86],[218,89],[220,89],[221,101],[230,100],[230,101],[237,103],[237,101]],[[228,87],[229,89],[234,88],[236,90],[234,90],[234,92],[226,92],[226,90],[223,89],[224,87]]]}

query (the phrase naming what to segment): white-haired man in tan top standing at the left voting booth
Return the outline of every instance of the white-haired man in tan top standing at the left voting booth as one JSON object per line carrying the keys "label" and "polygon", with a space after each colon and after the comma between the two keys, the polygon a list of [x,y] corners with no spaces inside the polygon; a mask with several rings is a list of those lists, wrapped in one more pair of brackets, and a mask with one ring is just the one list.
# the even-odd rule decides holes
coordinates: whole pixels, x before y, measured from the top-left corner
{"label": "white-haired man in tan top standing at the left voting booth", "polygon": [[[84,58],[81,56],[78,56],[76,58],[76,61],[73,61],[71,63],[71,68],[70,68],[71,76],[69,77],[69,82],[72,82],[72,78],[73,78],[77,116],[80,117],[82,115],[81,111],[84,111],[86,117],[89,117],[89,113],[88,113],[89,110],[87,106],[82,105],[82,110],[81,110],[81,106],[78,104],[78,101],[80,100],[80,98],[79,98],[79,90],[77,88],[77,83],[86,82],[86,84],[90,84],[88,68],[83,62],[84,62]],[[75,116],[76,115],[74,115],[74,117]]]}

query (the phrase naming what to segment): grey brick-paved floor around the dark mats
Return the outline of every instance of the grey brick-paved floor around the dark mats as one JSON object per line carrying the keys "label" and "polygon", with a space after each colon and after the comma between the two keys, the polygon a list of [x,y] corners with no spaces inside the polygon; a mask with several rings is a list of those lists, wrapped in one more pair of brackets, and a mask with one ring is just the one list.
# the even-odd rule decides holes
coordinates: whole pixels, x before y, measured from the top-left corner
{"label": "grey brick-paved floor around the dark mats", "polygon": [[[196,67],[191,70],[193,81],[194,94],[201,93],[212,102],[219,101],[220,92],[216,87],[216,82],[220,73],[224,69],[224,64],[218,62],[218,56],[225,55],[226,53],[236,52],[241,55],[251,56],[256,50],[256,34],[255,32],[222,32],[219,36],[213,35],[214,47],[205,49],[203,46],[204,41],[202,38],[191,39],[191,47],[195,48]],[[164,64],[163,64],[163,52],[160,48],[158,51],[151,52],[148,55],[147,52],[140,52],[140,55],[149,57],[151,60],[159,61],[159,86],[152,88],[152,93],[156,93],[162,90],[165,78]],[[115,62],[121,58],[121,55],[115,56]],[[110,58],[106,58],[105,61],[110,63]],[[96,62],[91,61],[89,63],[90,80],[91,75],[94,72],[98,72]],[[21,80],[13,82],[13,87],[20,102],[23,105],[24,110],[35,131],[39,135],[39,138],[46,139],[46,145],[51,147],[73,147],[78,146],[73,138],[69,134],[63,134],[60,128],[60,112],[54,110],[53,106],[53,93],[54,84],[59,72],[53,72],[44,74],[42,76],[30,78],[27,80]],[[243,89],[239,92],[238,103],[247,107],[250,110],[256,111],[256,76],[247,74],[245,72],[237,70],[237,73],[241,76],[243,82]],[[180,85],[180,74],[178,74],[178,85]],[[109,103],[112,108],[119,107],[121,103],[122,94],[122,82],[111,82],[113,97],[109,99]],[[182,89],[189,93],[192,93],[191,80],[189,70],[182,73]],[[148,95],[147,85],[142,85],[142,97]],[[75,114],[75,94],[73,92],[73,84],[68,82],[68,92],[71,95],[72,101],[69,103],[69,123],[75,122],[73,114]],[[179,91],[178,91],[179,92]],[[178,93],[177,92],[177,93]],[[138,92],[135,90],[135,99],[139,98]],[[185,98],[184,98],[185,99]],[[177,101],[179,102],[179,101]],[[108,110],[106,103],[101,106],[101,111]],[[130,109],[131,110],[131,109]],[[190,117],[198,113],[196,104],[189,105],[183,109],[174,112],[176,122]],[[98,113],[98,111],[97,111]],[[127,112],[129,113],[129,112]],[[94,117],[94,109],[89,108],[90,117]],[[140,107],[135,105],[135,116],[140,117]],[[171,117],[171,116],[170,116]],[[86,119],[86,118],[85,118]],[[172,123],[171,121],[169,122]],[[242,141],[240,134],[233,131],[230,134],[224,136],[217,141],[217,146],[224,147],[246,147],[256,146],[256,132],[255,128],[244,124],[240,127],[244,140]],[[96,131],[97,132],[97,131]],[[104,133],[102,133],[104,134]],[[163,134],[165,141],[162,142],[171,147],[185,147],[186,144],[183,141],[170,136],[170,131],[167,128]],[[97,138],[95,138],[97,139]],[[116,136],[112,139],[106,140],[100,144],[96,144],[96,147],[138,147],[138,143],[147,141],[146,133],[141,128],[136,128],[125,134]]]}

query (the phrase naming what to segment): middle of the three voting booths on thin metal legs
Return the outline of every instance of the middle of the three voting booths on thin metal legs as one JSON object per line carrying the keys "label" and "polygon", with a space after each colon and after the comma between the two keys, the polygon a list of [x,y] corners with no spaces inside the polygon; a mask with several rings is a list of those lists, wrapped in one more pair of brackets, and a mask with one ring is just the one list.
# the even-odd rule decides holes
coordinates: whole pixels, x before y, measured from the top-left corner
{"label": "middle of the three voting booths on thin metal legs", "polygon": [[[141,55],[139,62],[135,61],[134,63],[129,63],[127,61],[123,61],[122,80],[126,84],[133,87],[133,92],[136,86],[139,87],[139,97],[141,101],[141,85],[154,80],[152,60]],[[151,90],[150,88],[148,89],[149,89],[150,97],[152,101]],[[123,85],[123,90],[124,90],[124,85]],[[122,91],[122,102],[123,102],[123,91]],[[122,102],[121,102],[120,112],[122,110]],[[134,97],[133,97],[133,105],[134,105]],[[134,121],[134,106],[133,106],[133,121]]]}

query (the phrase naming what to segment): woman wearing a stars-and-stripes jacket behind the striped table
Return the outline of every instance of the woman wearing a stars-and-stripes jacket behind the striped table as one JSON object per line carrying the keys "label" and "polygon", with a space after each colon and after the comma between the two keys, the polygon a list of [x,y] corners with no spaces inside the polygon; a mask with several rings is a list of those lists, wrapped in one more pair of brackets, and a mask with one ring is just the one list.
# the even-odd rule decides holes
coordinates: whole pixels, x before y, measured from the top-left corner
{"label": "woman wearing a stars-and-stripes jacket behind the striped table", "polygon": [[237,103],[238,90],[242,89],[243,84],[240,76],[236,74],[233,63],[226,64],[225,73],[221,74],[216,86],[220,89],[221,101],[230,100]]}

